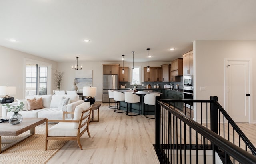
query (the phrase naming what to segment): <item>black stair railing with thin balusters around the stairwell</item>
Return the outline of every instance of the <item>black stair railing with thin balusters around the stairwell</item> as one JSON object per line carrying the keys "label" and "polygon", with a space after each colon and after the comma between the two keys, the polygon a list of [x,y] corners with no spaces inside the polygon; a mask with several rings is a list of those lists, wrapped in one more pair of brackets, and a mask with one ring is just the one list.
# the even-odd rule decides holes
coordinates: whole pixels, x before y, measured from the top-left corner
{"label": "black stair railing with thin balusters around the stairwell", "polygon": [[[191,102],[194,104],[195,118],[191,114],[191,106],[189,109],[186,109],[186,106],[180,108],[183,103]],[[154,147],[160,163],[208,164],[216,163],[216,160],[223,163],[256,162],[255,147],[228,114],[222,111],[224,109],[218,104],[217,97],[212,96],[211,100],[160,100],[157,96],[155,110]],[[186,110],[190,110],[189,117],[186,116]],[[223,117],[220,116],[222,112]],[[223,118],[228,122],[225,123]],[[228,124],[227,134],[222,132],[226,126],[222,128],[222,124]],[[229,130],[230,128],[232,130]],[[239,144],[234,142],[235,138],[239,138]],[[209,152],[212,155],[209,156]]]}

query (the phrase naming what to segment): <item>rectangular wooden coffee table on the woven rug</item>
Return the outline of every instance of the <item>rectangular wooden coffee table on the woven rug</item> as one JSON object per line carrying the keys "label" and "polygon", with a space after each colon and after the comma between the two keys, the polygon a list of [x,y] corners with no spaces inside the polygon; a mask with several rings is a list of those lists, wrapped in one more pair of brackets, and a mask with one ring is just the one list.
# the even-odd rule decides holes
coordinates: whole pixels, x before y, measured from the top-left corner
{"label": "rectangular wooden coffee table on the woven rug", "polygon": [[12,125],[9,122],[0,123],[0,144],[2,143],[1,136],[18,136],[28,130],[30,130],[30,134],[8,144],[7,146],[1,148],[0,153],[4,152],[8,148],[22,142],[26,138],[34,135],[36,133],[36,126],[45,122],[46,118],[23,118],[20,124]]}

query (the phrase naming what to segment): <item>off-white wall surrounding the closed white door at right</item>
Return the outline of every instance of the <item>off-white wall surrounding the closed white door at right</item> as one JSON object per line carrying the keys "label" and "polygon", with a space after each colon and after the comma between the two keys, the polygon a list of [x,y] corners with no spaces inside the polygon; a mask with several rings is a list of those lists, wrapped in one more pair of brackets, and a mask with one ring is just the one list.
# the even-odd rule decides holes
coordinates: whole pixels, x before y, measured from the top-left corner
{"label": "off-white wall surrounding the closed white door at right", "polygon": [[[218,96],[224,107],[224,58],[252,58],[252,102],[256,102],[256,41],[194,41],[194,99]],[[200,87],[206,91],[200,91]],[[256,122],[256,105],[251,107]]]}

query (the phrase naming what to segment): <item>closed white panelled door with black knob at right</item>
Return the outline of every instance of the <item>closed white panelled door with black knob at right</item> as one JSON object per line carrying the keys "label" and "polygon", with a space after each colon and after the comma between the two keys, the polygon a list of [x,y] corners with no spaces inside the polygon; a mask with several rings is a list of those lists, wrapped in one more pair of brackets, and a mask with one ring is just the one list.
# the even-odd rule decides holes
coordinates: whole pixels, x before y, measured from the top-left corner
{"label": "closed white panelled door with black knob at right", "polygon": [[227,112],[234,122],[249,122],[249,61],[226,62]]}

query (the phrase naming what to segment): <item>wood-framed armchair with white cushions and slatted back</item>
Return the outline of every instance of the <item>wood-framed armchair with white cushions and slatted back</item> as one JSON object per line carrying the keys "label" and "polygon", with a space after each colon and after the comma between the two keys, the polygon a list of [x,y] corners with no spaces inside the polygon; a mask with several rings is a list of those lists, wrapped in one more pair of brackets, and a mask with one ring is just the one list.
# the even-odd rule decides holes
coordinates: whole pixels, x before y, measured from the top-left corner
{"label": "wood-framed armchair with white cushions and slatted back", "polygon": [[[89,137],[89,122],[92,112],[90,102],[84,102],[76,106],[74,112],[63,112],[63,120],[46,119],[45,130],[45,150],[47,150],[48,140],[76,140],[82,150],[80,137],[87,131]],[[64,120],[65,114],[74,114],[73,120]],[[58,124],[48,129],[48,122],[58,122]]]}

